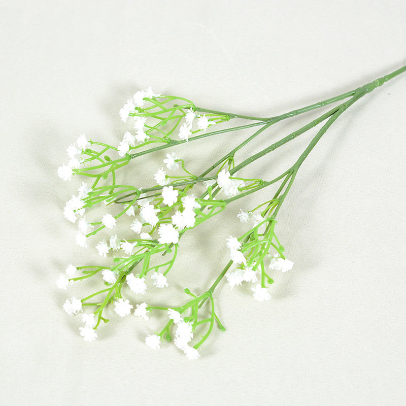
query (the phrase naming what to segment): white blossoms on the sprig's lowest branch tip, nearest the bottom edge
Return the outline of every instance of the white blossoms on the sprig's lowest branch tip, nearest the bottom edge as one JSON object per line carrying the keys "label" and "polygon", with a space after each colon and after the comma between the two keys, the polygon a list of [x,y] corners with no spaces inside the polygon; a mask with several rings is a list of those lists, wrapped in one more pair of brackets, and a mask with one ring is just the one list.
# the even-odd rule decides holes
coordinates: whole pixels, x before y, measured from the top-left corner
{"label": "white blossoms on the sprig's lowest branch tip, nearest the bottom edge", "polygon": [[[144,305],[146,303],[142,304]],[[174,340],[174,344],[176,345],[176,347],[182,350],[188,359],[199,358],[200,354],[198,353],[198,351],[195,348],[189,346],[190,341],[193,339],[192,323],[184,321],[180,313],[174,309],[168,309],[167,315],[168,318],[173,320],[173,322],[176,324]],[[145,344],[154,350],[158,350],[161,347],[161,337],[158,334],[148,334],[145,338]]]}

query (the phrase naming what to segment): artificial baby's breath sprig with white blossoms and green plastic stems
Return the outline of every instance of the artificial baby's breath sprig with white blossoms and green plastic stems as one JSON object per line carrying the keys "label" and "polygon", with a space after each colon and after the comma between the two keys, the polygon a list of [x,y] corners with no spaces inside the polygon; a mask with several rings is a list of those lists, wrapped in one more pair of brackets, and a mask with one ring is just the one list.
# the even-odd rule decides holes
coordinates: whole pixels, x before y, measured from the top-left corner
{"label": "artificial baby's breath sprig with white blossoms and green plastic stems", "polygon": [[[275,229],[278,212],[301,164],[350,106],[404,71],[406,67],[355,90],[274,117],[199,108],[187,98],[162,96],[148,88],[135,93],[120,110],[121,120],[132,128],[124,132],[118,145],[95,142],[81,134],[67,148],[69,162],[61,165],[57,172],[65,181],[75,176],[91,182],[81,183],[77,195],[66,202],[63,215],[78,224],[76,243],[80,247],[92,246],[98,255],[112,262],[77,267],[69,264],[57,280],[57,286],[63,290],[89,278],[103,283],[101,289],[82,299],[66,299],[62,306],[69,315],[77,315],[85,308],[92,310],[82,314],[84,326],[80,327],[80,334],[83,339],[91,342],[97,338],[96,330],[101,321],[109,321],[108,307],[114,307],[119,317],[132,313],[144,320],[149,320],[148,314],[153,311],[165,311],[168,321],[161,331],[147,335],[147,346],[159,349],[163,341],[173,341],[188,359],[197,359],[198,348],[208,340],[214,325],[224,330],[214,310],[214,291],[221,281],[225,279],[231,288],[243,282],[252,283],[253,297],[259,301],[269,300],[269,289],[274,283],[272,273],[287,272],[293,266],[284,254]],[[266,141],[261,151],[252,153],[246,148],[270,126],[330,104],[336,106],[280,140]],[[233,125],[234,119],[243,120],[245,124]],[[214,129],[220,123],[227,126]],[[280,175],[273,179],[239,175],[255,160],[317,126],[316,136],[307,148]],[[200,174],[186,168],[180,154],[173,150],[186,142],[251,128],[254,132],[247,139],[225,151],[216,162],[208,162]],[[153,174],[154,183],[137,187],[120,182],[124,167],[131,166],[142,155],[164,149],[170,151]],[[243,149],[247,151],[245,157],[236,162],[236,152]],[[240,210],[238,219],[251,227],[239,238],[230,235],[224,242],[229,260],[209,289],[200,289],[204,293],[195,295],[185,288],[191,299],[177,307],[163,306],[160,300],[157,306],[133,301],[133,295],[146,294],[151,284],[158,289],[170,285],[170,272],[179,272],[176,259],[186,232],[223,212],[232,201],[274,184],[277,190],[272,198],[252,210]],[[95,240],[96,236],[100,240]],[[204,306],[206,302],[208,306]],[[194,340],[197,333],[202,333],[198,341]],[[191,344],[193,340],[195,343]]]}

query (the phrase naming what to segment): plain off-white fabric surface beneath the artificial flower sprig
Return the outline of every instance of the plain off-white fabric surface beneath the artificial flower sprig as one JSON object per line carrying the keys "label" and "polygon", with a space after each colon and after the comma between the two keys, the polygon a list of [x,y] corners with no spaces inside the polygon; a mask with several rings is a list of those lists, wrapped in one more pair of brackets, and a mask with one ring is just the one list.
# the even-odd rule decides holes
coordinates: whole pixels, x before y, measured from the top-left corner
{"label": "plain off-white fabric surface beneath the artificial flower sprig", "polygon": [[[118,110],[149,85],[253,115],[351,90],[406,63],[404,2],[4,1],[0,15],[2,404],[403,404],[406,75],[349,109],[304,162],[278,216],[294,268],[268,302],[221,284],[227,331],[213,332],[199,360],[145,346],[159,318],[112,315],[99,340],[83,342],[55,281],[67,263],[97,256],[75,245],[61,213],[77,183],[56,168],[80,133],[118,143]],[[253,173],[270,174],[307,140]],[[230,142],[196,142],[185,159],[201,167]],[[143,161],[142,176],[158,165]],[[181,281],[210,286],[249,202],[185,236],[176,303]]]}

